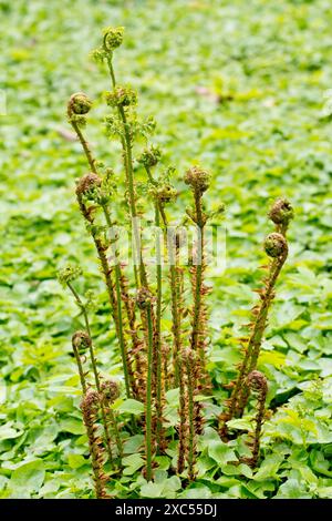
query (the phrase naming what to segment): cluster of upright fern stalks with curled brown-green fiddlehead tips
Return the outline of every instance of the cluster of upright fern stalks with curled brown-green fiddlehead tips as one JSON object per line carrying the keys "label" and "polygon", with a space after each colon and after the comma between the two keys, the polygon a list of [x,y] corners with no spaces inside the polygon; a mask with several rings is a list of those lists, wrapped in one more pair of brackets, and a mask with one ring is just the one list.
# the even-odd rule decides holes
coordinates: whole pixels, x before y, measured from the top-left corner
{"label": "cluster of upright fern stalks with curled brown-green fiddlehead tips", "polygon": [[[204,431],[204,406],[199,397],[211,395],[214,387],[206,369],[206,299],[209,289],[205,284],[205,234],[211,213],[205,210],[204,195],[209,187],[210,175],[201,167],[193,166],[184,177],[193,202],[186,211],[186,218],[196,235],[190,260],[188,265],[183,265],[181,231],[169,227],[169,205],[178,195],[170,178],[175,170],[158,166],[160,151],[148,141],[155,123],[152,118],[138,120],[135,111],[136,93],[116,81],[113,57],[122,41],[123,28],[107,28],[102,45],[93,55],[98,62],[106,63],[110,72],[111,89],[105,92],[110,113],[105,118],[105,129],[110,139],[118,140],[122,147],[123,195],[117,193],[117,186],[122,183],[117,181],[113,168],[97,161],[85,137],[84,129],[92,101],[79,92],[71,96],[68,104],[69,122],[87,162],[86,172],[76,183],[75,194],[108,295],[111,328],[115,331],[117,344],[113,349],[121,354],[126,398],[143,402],[145,410],[144,417],[138,420],[132,418],[127,425],[118,422],[112,408],[121,392],[118,382],[103,378],[97,368],[89,321],[93,299],[90,294],[83,298],[77,293],[75,279],[81,273],[79,268],[68,266],[61,269],[60,280],[71,290],[84,319],[84,330],[73,335],[72,346],[82,386],[81,409],[97,498],[108,497],[106,483],[110,472],[122,470],[122,429],[132,433],[144,430],[144,476],[147,481],[153,480],[155,456],[165,453],[168,443],[164,419],[165,392],[175,388],[179,389],[179,402],[176,429],[178,458],[174,470],[187,482],[193,481],[196,474],[197,439]],[[145,141],[145,147],[136,156],[139,139]],[[144,181],[138,183],[137,176]],[[155,229],[160,232],[155,241],[154,268],[147,265],[142,246],[144,202],[151,204]],[[128,228],[133,253],[128,264],[123,262],[118,246],[116,219],[123,208],[125,215],[122,224],[125,223]],[[259,303],[252,309],[250,335],[241,339],[243,358],[238,377],[229,385],[230,397],[224,415],[218,419],[220,437],[227,441],[234,436],[228,431],[227,422],[243,415],[250,391],[257,395],[256,428],[250,441],[252,457],[247,461],[252,467],[258,462],[268,390],[267,380],[257,370],[257,364],[276,282],[288,255],[286,232],[292,218],[292,208],[287,200],[278,200],[269,216],[276,224],[276,231],[264,242],[266,253],[270,257],[270,264],[266,267],[268,275],[263,287],[258,290]],[[162,316],[168,309],[172,329],[165,330]],[[87,358],[91,370],[85,367]],[[107,472],[105,466],[110,469]]]}

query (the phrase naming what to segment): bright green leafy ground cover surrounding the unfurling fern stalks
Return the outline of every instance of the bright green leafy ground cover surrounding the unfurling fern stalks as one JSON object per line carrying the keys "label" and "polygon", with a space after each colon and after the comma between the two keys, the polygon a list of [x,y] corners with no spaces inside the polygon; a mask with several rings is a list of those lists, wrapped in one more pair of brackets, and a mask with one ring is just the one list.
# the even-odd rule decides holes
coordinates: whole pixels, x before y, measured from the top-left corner
{"label": "bright green leafy ground cover surrounding the unfurling fern stalks", "polygon": [[[195,483],[184,491],[178,478],[166,479],[170,448],[148,486],[136,436],[126,441],[124,477],[114,490],[133,498],[331,498],[332,163],[331,123],[322,112],[332,85],[329,2],[63,0],[59,9],[55,1],[18,0],[1,1],[0,12],[7,96],[0,116],[0,496],[92,496],[70,345],[81,318],[56,282],[60,266],[79,262],[82,289],[97,295],[93,329],[102,370],[114,338],[73,195],[86,166],[65,103],[74,91],[100,99],[107,89],[86,55],[101,27],[122,24],[126,44],[117,69],[139,91],[142,113],[155,114],[165,160],[179,172],[195,161],[207,166],[210,205],[226,204],[227,269],[211,279],[211,371],[231,377],[238,359],[232,338],[241,336],[261,276],[264,208],[287,195],[297,215],[260,357],[271,410],[279,408],[264,423],[258,471],[235,464],[241,437],[226,447],[207,428]],[[95,120],[92,142],[96,132]],[[112,163],[118,151],[106,139],[97,143]],[[112,367],[117,376],[117,357]],[[220,381],[220,403],[224,396]],[[127,407],[120,403],[120,413]],[[220,411],[214,406],[210,415]],[[246,429],[249,419],[234,428]]]}

